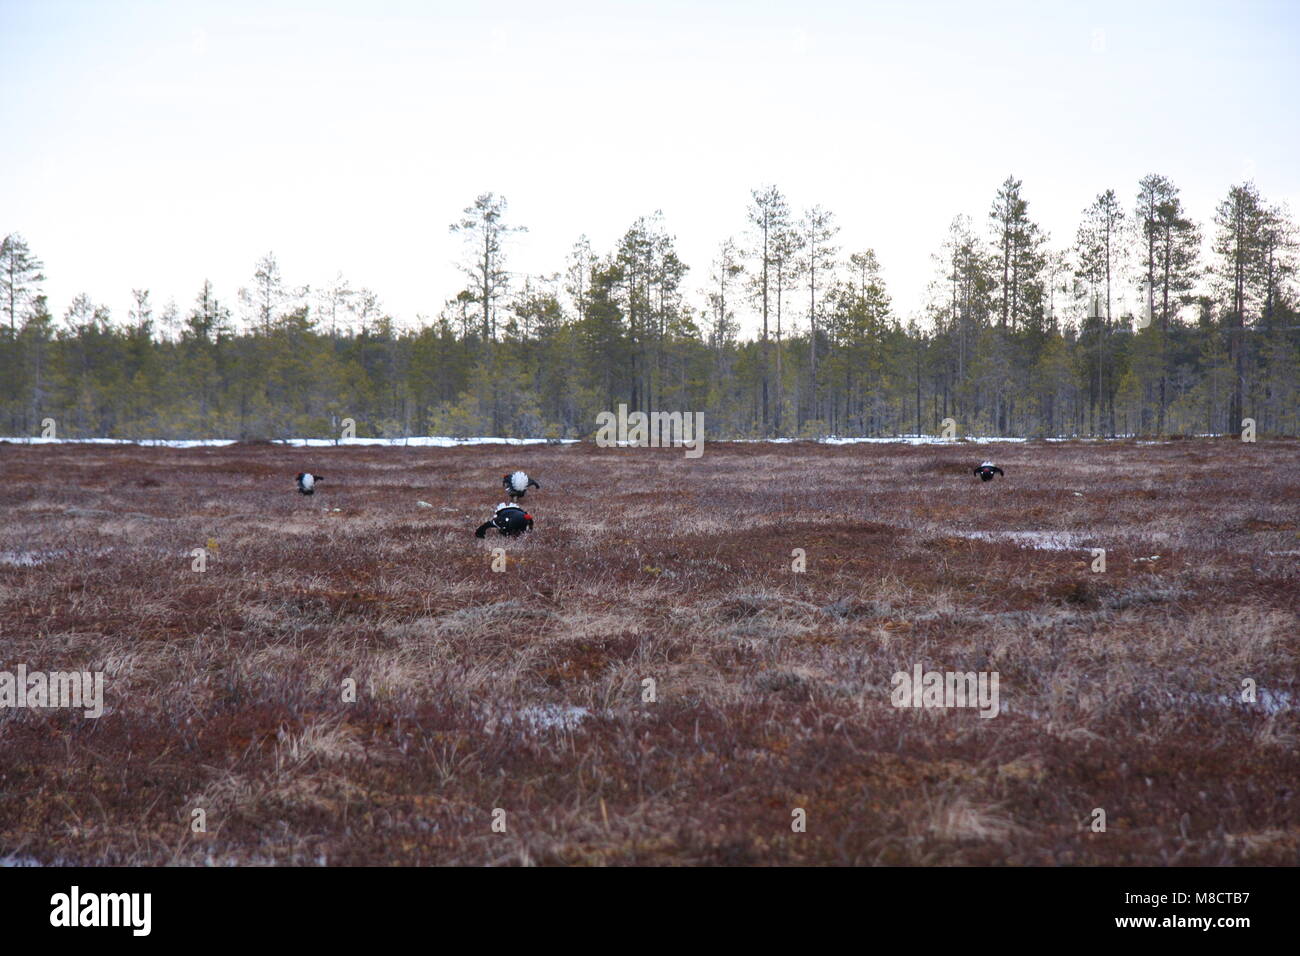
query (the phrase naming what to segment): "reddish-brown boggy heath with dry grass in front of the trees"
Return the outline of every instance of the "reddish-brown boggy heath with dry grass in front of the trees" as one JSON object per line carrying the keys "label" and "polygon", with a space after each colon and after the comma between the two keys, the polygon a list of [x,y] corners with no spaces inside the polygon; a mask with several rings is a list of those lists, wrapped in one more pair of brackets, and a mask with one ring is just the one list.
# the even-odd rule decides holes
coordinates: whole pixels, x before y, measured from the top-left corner
{"label": "reddish-brown boggy heath with dry grass in front of the trees", "polygon": [[[1296,864],[1297,480],[1294,441],[0,446],[0,670],[107,672],[98,721],[0,710],[0,857]],[[918,661],[1006,713],[894,709]]]}

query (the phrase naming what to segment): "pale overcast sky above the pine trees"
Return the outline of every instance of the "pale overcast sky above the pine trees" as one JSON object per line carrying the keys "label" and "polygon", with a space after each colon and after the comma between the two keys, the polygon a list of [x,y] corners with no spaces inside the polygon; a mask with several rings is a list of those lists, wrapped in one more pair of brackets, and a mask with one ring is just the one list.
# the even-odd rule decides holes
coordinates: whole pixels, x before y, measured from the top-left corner
{"label": "pale overcast sky above the pine trees", "polygon": [[0,234],[60,316],[205,277],[234,307],[273,250],[406,324],[462,286],[447,225],[490,190],[532,273],[663,209],[698,304],[774,182],[906,317],[1008,173],[1056,246],[1148,172],[1206,225],[1245,178],[1300,212],[1297,44],[1294,3],[0,0]]}

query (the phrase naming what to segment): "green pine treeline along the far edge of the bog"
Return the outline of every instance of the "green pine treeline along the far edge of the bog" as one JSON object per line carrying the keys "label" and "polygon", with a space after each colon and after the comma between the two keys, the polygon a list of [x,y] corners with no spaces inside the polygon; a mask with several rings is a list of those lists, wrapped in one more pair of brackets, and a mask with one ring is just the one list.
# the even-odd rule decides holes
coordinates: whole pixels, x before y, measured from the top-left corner
{"label": "green pine treeline along the far edge of the bog", "polygon": [[[0,431],[64,437],[581,437],[595,415],[703,411],[708,437],[1300,433],[1296,239],[1284,208],[1234,186],[1209,229],[1148,176],[1108,190],[1053,246],[1022,183],[983,228],[958,217],[923,313],[893,310],[874,250],[838,246],[832,212],[753,193],[746,228],[688,293],[660,216],[616,248],[584,238],[552,276],[506,256],[506,202],[451,232],[465,286],[398,328],[338,278],[292,287],[273,255],[234,308],[134,293],[121,320],[87,297],[51,313],[38,256],[0,246]],[[1205,233],[1209,233],[1208,237]],[[699,287],[702,286],[702,287]],[[738,334],[740,317],[757,333]]]}

